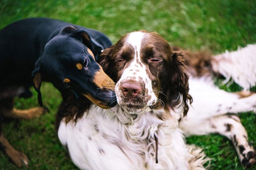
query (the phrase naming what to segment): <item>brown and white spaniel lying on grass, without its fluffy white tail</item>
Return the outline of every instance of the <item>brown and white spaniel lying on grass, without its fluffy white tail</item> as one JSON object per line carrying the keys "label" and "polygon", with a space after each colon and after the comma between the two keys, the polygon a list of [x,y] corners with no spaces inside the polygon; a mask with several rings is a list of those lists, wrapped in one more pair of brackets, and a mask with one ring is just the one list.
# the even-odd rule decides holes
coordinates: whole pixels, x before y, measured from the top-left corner
{"label": "brown and white spaniel lying on grass, without its fluffy white tail", "polygon": [[82,115],[80,110],[78,119],[60,121],[58,137],[74,164],[92,170],[204,169],[209,159],[185,145],[183,133],[224,135],[244,165],[255,164],[239,117],[226,113],[253,110],[256,94],[214,86],[213,70],[223,62],[216,61],[171,48],[157,33],[124,35],[99,61],[116,82],[118,105],[108,110],[92,105]]}

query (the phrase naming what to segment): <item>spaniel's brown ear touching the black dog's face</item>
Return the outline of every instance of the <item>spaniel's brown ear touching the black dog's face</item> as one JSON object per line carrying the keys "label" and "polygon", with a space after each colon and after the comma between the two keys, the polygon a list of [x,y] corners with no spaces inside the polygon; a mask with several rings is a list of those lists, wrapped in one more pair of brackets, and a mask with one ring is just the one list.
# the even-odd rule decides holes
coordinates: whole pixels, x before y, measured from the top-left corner
{"label": "spaniel's brown ear touching the black dog's face", "polygon": [[113,53],[113,47],[104,49],[104,51],[101,53],[98,63],[102,66],[103,70],[114,80],[114,82],[117,81],[117,70],[116,70],[116,64],[114,61],[114,53]]}

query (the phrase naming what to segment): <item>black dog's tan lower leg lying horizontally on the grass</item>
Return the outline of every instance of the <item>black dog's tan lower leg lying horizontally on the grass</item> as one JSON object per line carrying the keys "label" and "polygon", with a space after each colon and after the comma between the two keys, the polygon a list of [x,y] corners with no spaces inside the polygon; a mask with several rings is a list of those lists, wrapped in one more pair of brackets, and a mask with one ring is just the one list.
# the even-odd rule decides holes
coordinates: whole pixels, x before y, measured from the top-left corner
{"label": "black dog's tan lower leg lying horizontally on the grass", "polygon": [[2,110],[2,114],[4,117],[10,117],[14,119],[32,119],[34,117],[39,117],[45,112],[46,112],[46,109],[44,109],[44,107],[33,107],[30,109],[24,109],[24,110],[15,109],[15,108],[11,110],[8,110],[8,109]]}

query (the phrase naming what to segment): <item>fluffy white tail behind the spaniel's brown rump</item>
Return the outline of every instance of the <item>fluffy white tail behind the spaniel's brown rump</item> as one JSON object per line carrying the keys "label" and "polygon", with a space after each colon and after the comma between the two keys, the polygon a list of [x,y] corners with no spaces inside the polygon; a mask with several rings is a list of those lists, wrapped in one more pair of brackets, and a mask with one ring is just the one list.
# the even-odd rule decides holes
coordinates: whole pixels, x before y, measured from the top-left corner
{"label": "fluffy white tail behind the spaniel's brown rump", "polygon": [[225,83],[232,78],[244,90],[249,90],[256,85],[256,44],[214,56],[212,68],[226,78]]}

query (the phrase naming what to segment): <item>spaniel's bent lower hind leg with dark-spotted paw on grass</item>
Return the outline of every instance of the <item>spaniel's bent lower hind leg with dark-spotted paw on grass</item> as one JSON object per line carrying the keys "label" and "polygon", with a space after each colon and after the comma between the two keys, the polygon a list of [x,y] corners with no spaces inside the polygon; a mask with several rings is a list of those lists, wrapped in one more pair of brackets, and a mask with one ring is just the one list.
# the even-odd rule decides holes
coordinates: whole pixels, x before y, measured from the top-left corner
{"label": "spaniel's bent lower hind leg with dark-spotted paw on grass", "polygon": [[242,164],[250,167],[256,163],[255,150],[248,143],[247,132],[236,115],[221,115],[201,121],[184,119],[180,121],[179,126],[186,136],[210,133],[223,135],[233,142]]}

